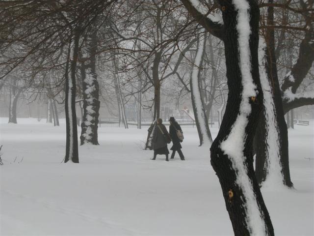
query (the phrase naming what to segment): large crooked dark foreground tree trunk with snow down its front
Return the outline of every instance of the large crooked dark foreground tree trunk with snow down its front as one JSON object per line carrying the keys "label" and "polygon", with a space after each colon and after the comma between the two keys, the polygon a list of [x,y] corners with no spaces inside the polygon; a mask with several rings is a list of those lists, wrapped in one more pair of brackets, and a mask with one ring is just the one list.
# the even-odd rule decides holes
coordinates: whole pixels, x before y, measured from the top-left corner
{"label": "large crooked dark foreground tree trunk with snow down its front", "polygon": [[222,2],[229,89],[211,151],[235,236],[274,235],[253,168],[253,138],[263,93],[259,79],[259,7],[255,0]]}

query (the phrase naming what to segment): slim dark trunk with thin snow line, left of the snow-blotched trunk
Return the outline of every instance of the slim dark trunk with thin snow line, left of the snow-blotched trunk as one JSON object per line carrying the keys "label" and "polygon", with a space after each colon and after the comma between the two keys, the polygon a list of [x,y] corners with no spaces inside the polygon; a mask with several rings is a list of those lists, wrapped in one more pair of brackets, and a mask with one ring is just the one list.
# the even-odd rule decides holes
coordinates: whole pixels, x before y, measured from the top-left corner
{"label": "slim dark trunk with thin snow line, left of the snow-blotched trunk", "polygon": [[66,121],[66,150],[64,162],[78,163],[78,129],[75,110],[76,99],[76,67],[78,61],[79,29],[75,29],[73,59],[71,60],[71,76],[69,77],[69,61],[71,48],[68,50],[68,60],[65,71],[65,121]]}

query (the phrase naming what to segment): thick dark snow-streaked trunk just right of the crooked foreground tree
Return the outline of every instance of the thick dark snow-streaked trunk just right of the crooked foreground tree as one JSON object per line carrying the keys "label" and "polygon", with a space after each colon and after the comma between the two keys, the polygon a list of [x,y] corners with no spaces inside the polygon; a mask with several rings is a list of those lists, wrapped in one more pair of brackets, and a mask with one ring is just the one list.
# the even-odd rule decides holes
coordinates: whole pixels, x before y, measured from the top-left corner
{"label": "thick dark snow-streaked trunk just right of the crooked foreground tree", "polygon": [[[268,2],[272,3],[272,0]],[[268,7],[267,22],[269,25],[273,23],[272,7]],[[288,159],[288,129],[278,81],[275,37],[272,29],[267,29],[262,48],[260,54],[263,55],[260,55],[260,60],[265,67],[261,72],[264,107],[255,139],[256,176],[260,185],[275,182],[292,187]]]}

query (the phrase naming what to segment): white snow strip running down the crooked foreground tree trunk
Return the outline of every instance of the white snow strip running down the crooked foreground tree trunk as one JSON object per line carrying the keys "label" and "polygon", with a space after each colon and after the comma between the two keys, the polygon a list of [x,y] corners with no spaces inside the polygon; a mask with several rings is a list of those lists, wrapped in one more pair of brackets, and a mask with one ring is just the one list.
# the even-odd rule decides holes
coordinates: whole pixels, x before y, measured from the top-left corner
{"label": "white snow strip running down the crooked foreground tree trunk", "polygon": [[250,29],[250,6],[246,0],[234,0],[235,9],[237,10],[238,31],[238,55],[239,66],[242,76],[243,91],[241,94],[241,103],[239,114],[235,120],[229,136],[220,144],[220,148],[227,154],[232,162],[236,173],[236,184],[243,191],[247,216],[246,223],[250,235],[265,235],[266,229],[264,220],[261,215],[259,205],[257,204],[256,195],[253,191],[253,185],[248,177],[248,170],[245,165],[246,157],[244,156],[244,140],[246,139],[245,127],[248,124],[248,116],[251,114],[250,97],[256,96],[256,85],[253,82],[251,74],[251,54],[249,48]]}

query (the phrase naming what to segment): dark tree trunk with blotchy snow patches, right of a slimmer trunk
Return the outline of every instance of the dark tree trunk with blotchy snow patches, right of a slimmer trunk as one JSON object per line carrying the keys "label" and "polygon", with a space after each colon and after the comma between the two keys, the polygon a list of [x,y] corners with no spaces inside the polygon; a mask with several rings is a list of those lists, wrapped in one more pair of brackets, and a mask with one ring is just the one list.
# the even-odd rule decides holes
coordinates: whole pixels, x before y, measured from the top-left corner
{"label": "dark tree trunk with blotchy snow patches, right of a slimmer trunk", "polygon": [[97,30],[87,38],[87,64],[81,65],[83,116],[81,122],[80,145],[98,143],[99,83],[96,71]]}

